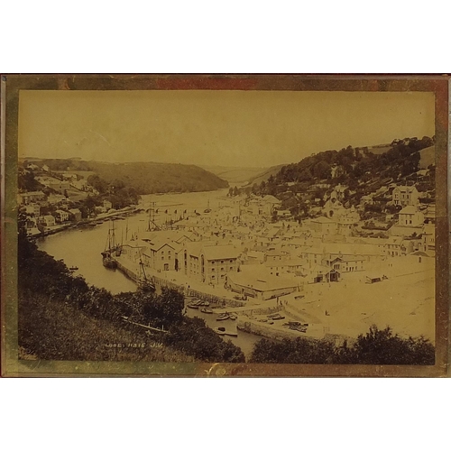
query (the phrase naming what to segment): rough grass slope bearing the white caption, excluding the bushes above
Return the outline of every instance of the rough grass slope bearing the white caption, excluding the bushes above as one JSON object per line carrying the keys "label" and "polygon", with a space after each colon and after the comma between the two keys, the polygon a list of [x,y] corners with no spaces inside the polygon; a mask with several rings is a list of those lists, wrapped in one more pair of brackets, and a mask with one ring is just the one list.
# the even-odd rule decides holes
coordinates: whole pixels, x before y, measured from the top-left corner
{"label": "rough grass slope bearing the white caption, excluding the bushes above", "polygon": [[161,345],[158,338],[46,296],[19,299],[21,358],[80,361],[193,362],[194,357]]}

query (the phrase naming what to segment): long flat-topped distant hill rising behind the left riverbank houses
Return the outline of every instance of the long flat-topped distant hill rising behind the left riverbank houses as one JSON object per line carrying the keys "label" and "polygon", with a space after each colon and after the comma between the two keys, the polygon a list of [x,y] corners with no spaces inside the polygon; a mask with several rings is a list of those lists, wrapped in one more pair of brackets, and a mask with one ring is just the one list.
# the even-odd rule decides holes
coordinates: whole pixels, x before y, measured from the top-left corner
{"label": "long flat-topped distant hill rising behind the left riverbank houses", "polygon": [[[138,194],[211,191],[227,188],[228,183],[193,164],[178,163],[107,163],[80,160],[41,160],[50,170],[92,171],[97,183],[124,185]],[[92,177],[92,176],[91,176]]]}

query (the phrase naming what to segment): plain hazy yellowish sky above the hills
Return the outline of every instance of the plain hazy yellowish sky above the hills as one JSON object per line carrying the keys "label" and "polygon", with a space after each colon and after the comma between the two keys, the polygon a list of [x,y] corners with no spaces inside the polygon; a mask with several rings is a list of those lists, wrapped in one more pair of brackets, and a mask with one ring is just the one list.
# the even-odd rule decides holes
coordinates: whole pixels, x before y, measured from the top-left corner
{"label": "plain hazy yellowish sky above the hills", "polygon": [[269,167],[435,134],[434,94],[22,90],[19,155]]}

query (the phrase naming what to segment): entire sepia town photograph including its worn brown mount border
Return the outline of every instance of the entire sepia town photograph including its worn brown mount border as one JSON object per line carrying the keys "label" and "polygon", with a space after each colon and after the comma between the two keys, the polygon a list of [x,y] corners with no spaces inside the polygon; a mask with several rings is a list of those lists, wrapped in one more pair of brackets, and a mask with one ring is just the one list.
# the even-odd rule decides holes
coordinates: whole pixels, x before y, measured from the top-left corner
{"label": "entire sepia town photograph including its worn brown mount border", "polygon": [[447,83],[5,76],[2,371],[445,376]]}

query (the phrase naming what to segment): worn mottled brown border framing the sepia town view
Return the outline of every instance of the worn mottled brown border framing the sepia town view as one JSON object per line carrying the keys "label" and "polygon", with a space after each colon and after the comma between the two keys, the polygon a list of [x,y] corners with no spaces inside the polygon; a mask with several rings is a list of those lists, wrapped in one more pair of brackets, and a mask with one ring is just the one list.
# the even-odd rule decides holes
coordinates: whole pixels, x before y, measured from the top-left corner
{"label": "worn mottled brown border framing the sepia town view", "polygon": [[[447,205],[448,82],[439,75],[4,75],[5,190],[2,193],[1,330],[3,376],[446,376],[449,322],[449,226]],[[292,91],[428,91],[436,104],[436,364],[155,364],[115,362],[19,361],[17,359],[17,156],[21,89],[147,90],[231,89]]]}

